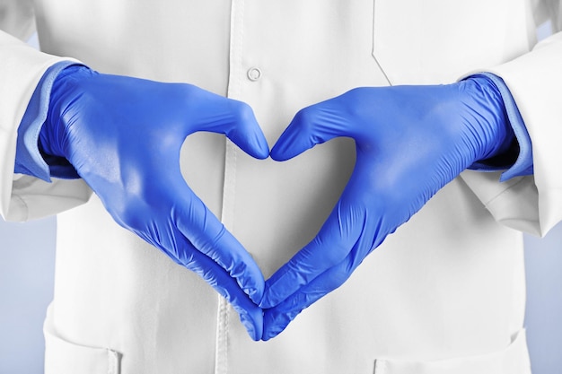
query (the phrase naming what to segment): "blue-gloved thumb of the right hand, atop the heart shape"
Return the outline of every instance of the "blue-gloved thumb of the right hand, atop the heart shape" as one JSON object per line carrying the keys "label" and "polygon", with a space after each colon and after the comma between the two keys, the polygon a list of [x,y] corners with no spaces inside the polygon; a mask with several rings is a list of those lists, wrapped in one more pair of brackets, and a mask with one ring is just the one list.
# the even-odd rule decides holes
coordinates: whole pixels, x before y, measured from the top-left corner
{"label": "blue-gloved thumb of the right hand, atop the heart shape", "polygon": [[350,134],[347,117],[336,100],[328,100],[300,110],[293,118],[270,156],[276,161],[286,161],[311,149],[316,144],[328,142],[338,136]]}

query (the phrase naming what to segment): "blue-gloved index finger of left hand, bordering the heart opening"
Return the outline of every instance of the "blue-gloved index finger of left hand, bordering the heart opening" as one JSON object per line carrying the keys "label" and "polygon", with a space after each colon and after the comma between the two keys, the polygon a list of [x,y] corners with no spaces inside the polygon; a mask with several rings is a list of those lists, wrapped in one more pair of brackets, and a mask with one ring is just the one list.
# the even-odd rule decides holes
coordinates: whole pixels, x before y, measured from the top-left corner
{"label": "blue-gloved index finger of left hand, bordering the heart opening", "polygon": [[261,300],[265,283],[259,266],[198,196],[191,192],[172,214],[176,226],[193,247],[230,274],[251,300]]}

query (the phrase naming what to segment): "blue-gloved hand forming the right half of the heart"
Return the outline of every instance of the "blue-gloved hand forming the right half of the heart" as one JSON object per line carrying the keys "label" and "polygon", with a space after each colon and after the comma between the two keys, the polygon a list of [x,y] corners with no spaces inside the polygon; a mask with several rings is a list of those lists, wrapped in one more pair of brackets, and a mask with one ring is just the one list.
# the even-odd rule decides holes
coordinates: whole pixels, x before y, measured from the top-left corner
{"label": "blue-gloved hand forming the right half of the heart", "polygon": [[355,139],[355,170],[318,235],[266,282],[263,340],[338,288],[441,187],[503,152],[514,135],[496,86],[479,76],[348,91],[300,111],[270,155],[285,161],[338,136]]}

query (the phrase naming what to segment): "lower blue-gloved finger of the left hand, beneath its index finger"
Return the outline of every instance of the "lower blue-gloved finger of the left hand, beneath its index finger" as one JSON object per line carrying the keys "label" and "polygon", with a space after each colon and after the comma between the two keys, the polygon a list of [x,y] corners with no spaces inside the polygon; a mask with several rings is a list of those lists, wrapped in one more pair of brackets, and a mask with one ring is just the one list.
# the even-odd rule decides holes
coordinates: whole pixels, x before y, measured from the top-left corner
{"label": "lower blue-gloved finger of the left hand, beneath its index finger", "polygon": [[233,306],[240,316],[242,325],[250,337],[258,341],[263,332],[263,312],[248,295],[241,290],[237,281],[210,257],[194,248],[189,240],[180,240],[179,250],[184,256],[181,265],[198,274]]}

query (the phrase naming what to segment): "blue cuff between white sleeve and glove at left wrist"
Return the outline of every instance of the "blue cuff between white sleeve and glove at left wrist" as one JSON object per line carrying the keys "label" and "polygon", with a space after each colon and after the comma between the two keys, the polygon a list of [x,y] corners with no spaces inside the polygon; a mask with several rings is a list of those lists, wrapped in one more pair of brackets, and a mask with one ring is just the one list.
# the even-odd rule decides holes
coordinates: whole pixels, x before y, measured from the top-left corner
{"label": "blue cuff between white sleeve and glove at left wrist", "polygon": [[[39,135],[48,114],[50,91],[57,78],[66,67],[76,65],[73,61],[61,61],[52,65],[43,74],[33,91],[31,100],[18,127],[14,172],[31,175],[50,182],[51,168],[40,152]],[[62,174],[67,178],[78,178],[70,164]],[[60,172],[57,174],[61,174]],[[53,174],[54,175],[54,174]]]}

